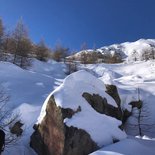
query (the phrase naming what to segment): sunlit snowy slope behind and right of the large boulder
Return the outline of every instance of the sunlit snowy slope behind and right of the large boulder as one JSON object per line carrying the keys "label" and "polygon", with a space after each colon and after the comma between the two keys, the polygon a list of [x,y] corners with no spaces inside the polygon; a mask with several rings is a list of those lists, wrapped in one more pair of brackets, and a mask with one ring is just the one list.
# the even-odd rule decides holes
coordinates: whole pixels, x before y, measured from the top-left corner
{"label": "sunlit snowy slope behind and right of the large boulder", "polygon": [[[144,104],[144,114],[148,117],[143,118],[143,124],[155,124],[155,61],[136,62],[129,64],[97,64],[87,65],[87,70],[96,75],[104,83],[114,84],[118,87],[118,91],[122,101],[122,108],[131,110],[128,105],[131,101],[138,100],[138,89],[140,91],[140,99]],[[146,110],[147,109],[147,110]],[[146,113],[147,111],[147,113]],[[143,112],[143,111],[142,111]],[[129,119],[132,124],[137,123],[137,119]],[[130,122],[130,123],[131,123]],[[134,134],[137,134],[137,128],[132,127]],[[148,136],[155,136],[155,125],[151,131],[145,131]],[[133,132],[133,130],[131,130]],[[130,134],[131,131],[129,131]],[[150,132],[150,133],[149,133]]]}

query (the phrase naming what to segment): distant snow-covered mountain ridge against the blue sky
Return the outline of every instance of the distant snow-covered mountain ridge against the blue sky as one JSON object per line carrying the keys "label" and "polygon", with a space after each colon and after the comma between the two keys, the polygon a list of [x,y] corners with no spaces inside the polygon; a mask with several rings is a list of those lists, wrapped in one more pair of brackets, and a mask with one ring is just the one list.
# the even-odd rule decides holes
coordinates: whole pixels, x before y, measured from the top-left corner
{"label": "distant snow-covered mountain ridge against the blue sky", "polygon": [[[125,42],[121,44],[113,44],[104,46],[99,49],[82,50],[69,58],[80,60],[83,53],[90,55],[91,52],[98,53],[98,58],[103,58],[103,62],[107,60],[104,58],[113,57],[114,55],[127,62],[137,60],[155,59],[155,40],[154,39],[140,39],[135,42]],[[102,55],[102,56],[101,56]]]}

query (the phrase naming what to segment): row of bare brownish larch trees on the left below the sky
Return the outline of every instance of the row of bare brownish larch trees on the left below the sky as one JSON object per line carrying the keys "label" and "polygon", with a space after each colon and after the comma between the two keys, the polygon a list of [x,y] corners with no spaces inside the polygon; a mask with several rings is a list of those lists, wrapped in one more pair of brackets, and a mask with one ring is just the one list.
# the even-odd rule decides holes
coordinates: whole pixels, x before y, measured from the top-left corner
{"label": "row of bare brownish larch trees on the left below the sky", "polygon": [[9,61],[26,69],[31,66],[31,61],[36,58],[40,61],[47,61],[52,58],[56,61],[64,59],[69,48],[61,44],[54,49],[49,48],[43,39],[34,43],[28,33],[23,20],[20,19],[11,32],[6,32],[2,19],[0,18],[0,60]]}

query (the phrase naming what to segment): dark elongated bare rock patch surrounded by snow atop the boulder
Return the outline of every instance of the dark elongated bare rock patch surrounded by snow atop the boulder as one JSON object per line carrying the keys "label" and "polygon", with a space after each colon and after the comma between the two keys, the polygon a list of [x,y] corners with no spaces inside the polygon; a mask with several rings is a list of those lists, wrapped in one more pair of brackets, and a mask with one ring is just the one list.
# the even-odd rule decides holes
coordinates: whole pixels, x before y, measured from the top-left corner
{"label": "dark elongated bare rock patch surrounded by snow atop the boulder", "polygon": [[91,95],[89,93],[83,93],[82,96],[97,112],[115,117],[119,120],[122,119],[122,113],[120,112],[120,109],[108,104],[106,98],[102,98],[98,94]]}

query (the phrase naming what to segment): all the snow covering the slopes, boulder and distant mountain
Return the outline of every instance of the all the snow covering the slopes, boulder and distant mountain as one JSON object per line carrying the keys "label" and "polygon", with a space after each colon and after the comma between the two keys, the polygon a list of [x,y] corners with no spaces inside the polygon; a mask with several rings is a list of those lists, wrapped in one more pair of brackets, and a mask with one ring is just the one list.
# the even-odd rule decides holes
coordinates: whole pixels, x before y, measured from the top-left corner
{"label": "all the snow covering the slopes, boulder and distant mountain", "polygon": [[[155,137],[154,125],[149,131],[143,131],[146,136],[142,138],[124,139],[126,134],[118,128],[120,121],[97,113],[82,97],[83,92],[99,94],[106,97],[109,104],[117,106],[115,101],[105,93],[104,86],[104,84],[114,84],[118,88],[122,109],[131,111],[129,103],[138,100],[137,92],[139,89],[140,99],[144,103],[142,112],[145,114],[145,109],[147,109],[149,116],[143,119],[142,123],[155,124],[155,60],[130,61],[134,50],[141,56],[145,49],[150,49],[150,46],[155,46],[155,40],[141,39],[133,43],[128,42],[100,48],[98,49],[100,52],[103,52],[105,48],[107,49],[105,52],[108,52],[111,48],[110,51],[113,54],[115,51],[113,48],[122,49],[123,54],[127,57],[126,62],[80,65],[80,68],[87,70],[87,72],[78,71],[67,78],[64,74],[64,64],[52,60],[40,62],[34,59],[32,67],[28,70],[23,70],[8,62],[0,62],[0,84],[10,96],[7,107],[13,112],[19,112],[24,123],[24,134],[21,140],[15,146],[6,148],[3,154],[35,155],[29,147],[30,136],[33,132],[32,127],[36,122],[41,123],[46,115],[47,102],[51,95],[54,95],[57,106],[73,110],[77,110],[80,106],[82,109],[71,119],[65,119],[66,125],[86,130],[101,147],[112,143],[112,138],[123,139],[94,152],[92,155],[154,155],[155,140],[149,138]],[[129,118],[127,127],[130,123],[137,123],[136,111],[137,109],[133,110],[134,115]],[[137,127],[129,127],[126,132],[128,135],[138,135]]]}

